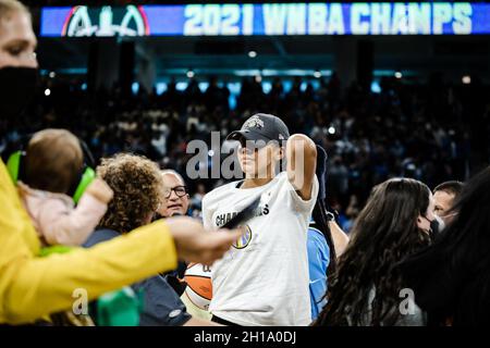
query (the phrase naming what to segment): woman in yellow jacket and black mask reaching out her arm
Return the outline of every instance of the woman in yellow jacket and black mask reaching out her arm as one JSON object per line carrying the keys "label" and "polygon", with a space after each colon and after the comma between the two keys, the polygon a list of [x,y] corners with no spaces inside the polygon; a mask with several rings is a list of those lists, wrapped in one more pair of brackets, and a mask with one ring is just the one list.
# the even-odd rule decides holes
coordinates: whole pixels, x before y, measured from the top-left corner
{"label": "woman in yellow jacket and black mask reaching out her arm", "polygon": [[[28,10],[0,0],[0,117],[15,116],[35,84],[36,37]],[[177,254],[212,263],[240,233],[206,234],[189,217],[172,217],[64,254],[39,258],[40,244],[0,160],[0,324],[30,323],[72,308],[76,291],[91,300],[176,266]]]}

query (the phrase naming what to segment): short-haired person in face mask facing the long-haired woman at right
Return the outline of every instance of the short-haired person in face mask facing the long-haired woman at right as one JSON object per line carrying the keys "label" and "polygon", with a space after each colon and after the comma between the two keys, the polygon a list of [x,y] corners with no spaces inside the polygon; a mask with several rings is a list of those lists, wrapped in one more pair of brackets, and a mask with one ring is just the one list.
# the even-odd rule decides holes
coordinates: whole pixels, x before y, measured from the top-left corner
{"label": "short-haired person in face mask facing the long-haired woman at right", "polygon": [[442,183],[433,189],[433,200],[436,202],[434,213],[438,221],[438,232],[442,232],[456,215],[451,212],[454,202],[463,190],[464,184],[457,181]]}

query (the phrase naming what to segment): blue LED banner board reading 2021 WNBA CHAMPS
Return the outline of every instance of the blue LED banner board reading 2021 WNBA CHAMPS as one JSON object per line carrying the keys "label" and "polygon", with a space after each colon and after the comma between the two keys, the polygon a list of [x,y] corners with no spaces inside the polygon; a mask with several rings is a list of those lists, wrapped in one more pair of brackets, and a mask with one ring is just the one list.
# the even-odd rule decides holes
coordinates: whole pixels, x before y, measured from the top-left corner
{"label": "blue LED banner board reading 2021 WNBA CHAMPS", "polygon": [[229,3],[41,10],[40,35],[265,36],[490,34],[490,4]]}

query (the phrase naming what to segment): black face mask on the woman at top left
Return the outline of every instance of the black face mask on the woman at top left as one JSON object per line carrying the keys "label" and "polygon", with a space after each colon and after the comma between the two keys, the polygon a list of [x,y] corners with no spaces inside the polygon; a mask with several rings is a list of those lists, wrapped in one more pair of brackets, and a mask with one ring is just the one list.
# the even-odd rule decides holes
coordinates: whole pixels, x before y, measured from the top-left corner
{"label": "black face mask on the woman at top left", "polygon": [[34,67],[0,69],[0,117],[22,115],[33,101],[38,82],[38,70]]}

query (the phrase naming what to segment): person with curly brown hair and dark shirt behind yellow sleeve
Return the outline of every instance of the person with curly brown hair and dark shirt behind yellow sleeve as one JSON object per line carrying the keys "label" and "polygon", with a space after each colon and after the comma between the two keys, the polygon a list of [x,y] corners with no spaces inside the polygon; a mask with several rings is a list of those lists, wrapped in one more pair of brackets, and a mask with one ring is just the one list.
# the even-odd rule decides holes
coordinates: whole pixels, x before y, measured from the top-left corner
{"label": "person with curly brown hair and dark shirt behind yellow sleeve", "polygon": [[[112,188],[114,197],[100,221],[100,229],[89,237],[87,247],[149,224],[162,200],[162,175],[157,164],[146,158],[120,153],[103,159],[97,173]],[[132,287],[135,291],[143,290],[145,296],[139,318],[142,326],[211,324],[192,318],[162,275],[146,278]]]}

